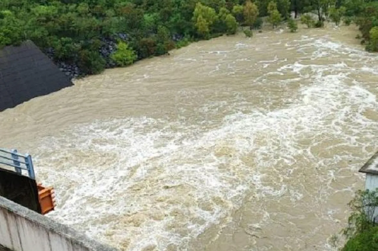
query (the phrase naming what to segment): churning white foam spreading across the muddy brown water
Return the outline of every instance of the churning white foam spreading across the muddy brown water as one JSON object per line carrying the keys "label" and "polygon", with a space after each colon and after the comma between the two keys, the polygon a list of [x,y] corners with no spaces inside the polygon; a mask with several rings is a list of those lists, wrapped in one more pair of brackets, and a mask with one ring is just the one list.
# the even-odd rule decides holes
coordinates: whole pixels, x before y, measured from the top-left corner
{"label": "churning white foam spreading across the muddy brown water", "polygon": [[[345,51],[334,43],[313,41],[302,37],[300,42],[315,44],[318,50]],[[311,74],[302,74],[304,70]],[[369,142],[351,139],[377,128],[376,121],[361,113],[378,109],[376,97],[356,81],[346,84],[349,70],[342,62],[297,61],[279,67],[279,74],[294,72],[310,84],[290,97],[288,107],[276,110],[248,106],[240,96],[206,104],[199,111],[209,118],[228,111],[215,128],[185,120],[109,119],[45,139],[36,156],[37,173],[56,182],[59,205],[49,217],[124,250],[151,245],[165,250],[170,244],[185,250],[187,240],[231,220],[251,189],[261,198],[288,194],[292,201],[302,200],[304,194],[284,182],[266,184],[266,171],[283,168],[277,169],[282,176],[290,175],[299,157],[318,168],[332,165],[337,159],[319,158],[299,141],[317,142],[326,132],[342,145],[352,142],[361,148]],[[238,112],[242,106],[249,112]],[[244,161],[246,156],[254,156],[251,163]],[[327,182],[333,175],[329,173]],[[265,216],[269,218],[267,212]]]}

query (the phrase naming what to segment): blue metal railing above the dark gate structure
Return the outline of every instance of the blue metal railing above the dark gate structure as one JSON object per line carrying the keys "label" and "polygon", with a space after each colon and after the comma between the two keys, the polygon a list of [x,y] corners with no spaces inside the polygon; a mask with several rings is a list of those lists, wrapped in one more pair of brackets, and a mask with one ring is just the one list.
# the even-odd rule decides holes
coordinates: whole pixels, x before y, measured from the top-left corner
{"label": "blue metal railing above the dark gate structure", "polygon": [[20,175],[23,175],[22,170],[26,170],[29,178],[36,179],[33,161],[29,154],[22,155],[16,149],[8,151],[0,148],[0,168],[1,165],[11,167],[12,171],[14,170]]}

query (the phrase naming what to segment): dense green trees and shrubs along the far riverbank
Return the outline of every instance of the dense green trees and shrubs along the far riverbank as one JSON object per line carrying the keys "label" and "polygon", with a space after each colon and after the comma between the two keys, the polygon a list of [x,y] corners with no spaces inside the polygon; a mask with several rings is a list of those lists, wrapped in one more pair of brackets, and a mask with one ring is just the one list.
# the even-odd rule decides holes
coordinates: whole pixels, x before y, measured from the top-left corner
{"label": "dense green trees and shrubs along the far riverbank", "polygon": [[[167,54],[191,41],[235,34],[239,26],[274,28],[282,20],[322,27],[354,21],[369,51],[378,50],[374,0],[2,0],[0,47],[32,40],[70,77]],[[291,22],[291,21],[290,21]],[[292,22],[291,30],[295,31]],[[245,28],[244,28],[245,29]]]}

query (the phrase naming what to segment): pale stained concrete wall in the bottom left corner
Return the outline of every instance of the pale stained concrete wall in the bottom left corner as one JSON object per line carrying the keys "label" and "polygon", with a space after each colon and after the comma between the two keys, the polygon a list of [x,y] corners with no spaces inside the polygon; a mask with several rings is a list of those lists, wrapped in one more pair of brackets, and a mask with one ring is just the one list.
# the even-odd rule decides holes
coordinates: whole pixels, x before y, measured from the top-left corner
{"label": "pale stained concrete wall in the bottom left corner", "polygon": [[0,197],[0,251],[116,251]]}

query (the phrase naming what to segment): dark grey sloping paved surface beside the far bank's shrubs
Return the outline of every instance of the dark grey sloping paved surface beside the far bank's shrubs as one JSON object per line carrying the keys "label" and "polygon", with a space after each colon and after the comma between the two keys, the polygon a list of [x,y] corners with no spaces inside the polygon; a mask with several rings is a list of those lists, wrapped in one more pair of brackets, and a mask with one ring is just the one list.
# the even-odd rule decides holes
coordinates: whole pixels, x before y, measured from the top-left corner
{"label": "dark grey sloping paved surface beside the far bank's shrubs", "polygon": [[0,111],[72,85],[32,41],[0,50]]}

